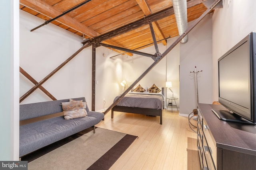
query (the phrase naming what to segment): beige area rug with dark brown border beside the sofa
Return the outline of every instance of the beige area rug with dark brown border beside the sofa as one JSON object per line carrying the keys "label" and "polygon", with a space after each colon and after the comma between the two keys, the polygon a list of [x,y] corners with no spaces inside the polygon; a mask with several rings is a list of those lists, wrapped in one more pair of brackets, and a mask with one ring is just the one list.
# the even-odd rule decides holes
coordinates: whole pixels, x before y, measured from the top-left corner
{"label": "beige area rug with dark brown border beside the sofa", "polygon": [[108,170],[136,138],[102,128],[96,128],[96,133],[87,129],[22,160],[28,160],[28,170]]}

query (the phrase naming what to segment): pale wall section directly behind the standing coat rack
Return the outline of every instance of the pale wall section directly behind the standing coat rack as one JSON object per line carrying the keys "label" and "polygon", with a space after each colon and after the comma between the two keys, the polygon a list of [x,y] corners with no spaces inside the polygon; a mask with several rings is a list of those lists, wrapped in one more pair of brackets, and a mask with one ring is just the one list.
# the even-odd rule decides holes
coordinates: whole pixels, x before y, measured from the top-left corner
{"label": "pale wall section directly behind the standing coat rack", "polygon": [[[190,26],[194,21],[188,23]],[[198,76],[199,103],[212,104],[212,18],[207,15],[180,44],[180,115],[196,109],[195,75]]]}

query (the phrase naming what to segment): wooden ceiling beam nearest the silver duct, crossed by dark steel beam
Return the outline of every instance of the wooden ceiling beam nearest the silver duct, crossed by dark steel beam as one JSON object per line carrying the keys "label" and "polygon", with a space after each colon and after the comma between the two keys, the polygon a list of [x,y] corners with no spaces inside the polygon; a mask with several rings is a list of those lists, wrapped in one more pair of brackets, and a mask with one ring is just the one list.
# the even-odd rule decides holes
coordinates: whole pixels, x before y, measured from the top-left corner
{"label": "wooden ceiling beam nearest the silver duct, crossed by dark steel beam", "polygon": [[[138,5],[140,6],[141,10],[143,11],[143,13],[146,15],[146,16],[149,16],[152,14],[146,0],[136,0],[136,2],[138,3]],[[162,39],[162,43],[163,45],[167,45],[167,41],[165,40],[165,37],[164,37],[164,34],[162,33],[162,30],[160,29],[157,21],[154,21],[152,22],[152,26],[153,26],[153,29],[156,33],[156,35],[158,36],[158,40],[159,39]]]}

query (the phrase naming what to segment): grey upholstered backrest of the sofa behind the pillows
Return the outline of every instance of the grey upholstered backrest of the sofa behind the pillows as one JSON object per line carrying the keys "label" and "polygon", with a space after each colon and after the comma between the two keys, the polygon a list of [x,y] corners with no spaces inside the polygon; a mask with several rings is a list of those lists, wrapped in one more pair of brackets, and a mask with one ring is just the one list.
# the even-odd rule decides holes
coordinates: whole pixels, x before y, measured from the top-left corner
{"label": "grey upholstered backrest of the sofa behind the pillows", "polygon": [[[83,102],[86,102],[84,97],[73,99],[83,100]],[[62,102],[69,102],[69,99],[53,100],[48,102],[39,102],[32,104],[22,104],[20,105],[20,121],[62,112]],[[88,106],[86,107],[86,111],[89,112]]]}

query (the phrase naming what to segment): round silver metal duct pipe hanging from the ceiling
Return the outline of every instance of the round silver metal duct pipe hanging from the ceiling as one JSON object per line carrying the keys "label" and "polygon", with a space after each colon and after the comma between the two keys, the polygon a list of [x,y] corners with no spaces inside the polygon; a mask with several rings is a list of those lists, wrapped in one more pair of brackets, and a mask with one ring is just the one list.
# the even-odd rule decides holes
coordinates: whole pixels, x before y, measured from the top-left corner
{"label": "round silver metal duct pipe hanging from the ceiling", "polygon": [[[186,31],[186,29],[188,29],[187,1],[172,0],[172,6],[174,9],[179,35],[182,35]],[[188,35],[186,35],[180,42],[186,43],[187,41]]]}

